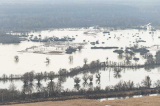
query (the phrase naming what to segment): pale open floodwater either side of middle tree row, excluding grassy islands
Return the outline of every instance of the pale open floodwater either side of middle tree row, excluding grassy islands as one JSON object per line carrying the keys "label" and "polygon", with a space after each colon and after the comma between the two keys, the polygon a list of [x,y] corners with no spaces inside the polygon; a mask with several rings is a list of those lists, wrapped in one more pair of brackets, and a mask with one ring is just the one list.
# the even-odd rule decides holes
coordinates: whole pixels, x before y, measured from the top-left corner
{"label": "pale open floodwater either side of middle tree row, excluding grassy islands", "polygon": [[[114,62],[123,62],[124,59],[119,59],[118,54],[113,53],[114,49],[91,49],[91,47],[97,46],[97,47],[106,47],[106,46],[117,46],[119,48],[125,48],[130,47],[135,44],[136,40],[144,40],[146,42],[140,42],[138,43],[139,46],[147,46],[150,50],[150,53],[155,55],[156,51],[159,50],[158,46],[154,45],[160,45],[160,39],[158,38],[160,36],[160,31],[155,31],[154,34],[149,34],[148,31],[145,30],[135,30],[135,29],[126,29],[126,30],[115,30],[111,31],[110,35],[103,34],[103,31],[105,29],[57,29],[57,30],[45,30],[45,31],[38,31],[38,32],[30,32],[29,35],[38,36],[41,35],[42,38],[45,38],[46,36],[52,37],[63,37],[63,36],[69,36],[74,37],[75,41],[70,42],[72,43],[87,43],[84,48],[81,51],[76,51],[73,54],[36,54],[36,53],[27,53],[27,52],[18,52],[25,50],[26,48],[32,47],[32,46],[41,46],[44,45],[44,43],[40,42],[31,42],[31,41],[23,41],[20,44],[1,44],[0,45],[0,67],[1,67],[1,73],[0,76],[3,74],[10,75],[22,75],[25,72],[34,71],[36,73],[38,72],[50,72],[54,71],[55,73],[58,72],[58,70],[61,68],[74,68],[77,66],[83,66],[84,64],[84,58],[88,59],[88,63],[90,63],[93,60],[99,59],[101,62],[106,61],[106,58],[108,57],[109,61]],[[86,35],[84,32],[89,32],[90,34]],[[78,35],[78,36],[76,36]],[[111,38],[109,38],[111,37]],[[119,39],[119,40],[118,40]],[[91,45],[90,42],[99,41],[99,44],[97,45]],[[102,44],[104,42],[104,44]],[[14,56],[19,56],[19,61],[16,62],[14,60]],[[73,56],[73,62],[71,63],[68,59],[68,57],[72,55]],[[49,64],[46,64],[46,57],[48,57],[51,62]],[[139,53],[135,55],[135,57],[140,58],[140,61],[137,62],[137,64],[143,64],[145,62],[145,59],[143,59]],[[135,61],[132,60],[132,63],[135,63]],[[101,80],[100,83],[96,82],[96,74],[100,72],[101,73]],[[153,82],[160,79],[160,72],[158,68],[152,69],[152,70],[145,70],[143,68],[132,70],[132,69],[126,69],[120,72],[121,77],[117,78],[115,77],[114,71],[110,69],[106,70],[99,70],[95,73],[87,73],[88,75],[93,75],[93,86],[100,86],[101,88],[105,88],[106,86],[115,85],[119,81],[133,81],[135,84],[141,83],[141,81],[145,78],[145,76],[149,75],[150,78],[153,80]],[[80,86],[81,88],[87,87],[88,85],[83,84],[83,74],[77,75],[75,77],[79,77],[81,79]],[[57,79],[54,80],[55,82]],[[42,85],[46,86],[49,81],[42,81]],[[22,81],[16,81],[12,82],[17,86],[17,89],[21,90],[23,86]],[[37,81],[34,81],[36,84]],[[88,81],[89,83],[89,81]],[[8,88],[11,82],[0,82],[0,88]],[[74,79],[73,78],[67,78],[66,81],[62,84],[63,89],[70,89],[72,90],[74,88]]]}

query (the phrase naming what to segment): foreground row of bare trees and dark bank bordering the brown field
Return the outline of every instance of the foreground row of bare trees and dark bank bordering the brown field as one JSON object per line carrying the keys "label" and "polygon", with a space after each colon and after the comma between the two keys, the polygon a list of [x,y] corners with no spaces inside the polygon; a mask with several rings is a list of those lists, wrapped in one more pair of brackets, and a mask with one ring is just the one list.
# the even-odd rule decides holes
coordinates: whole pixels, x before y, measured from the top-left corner
{"label": "foreground row of bare trees and dark bank bordering the brown field", "polygon": [[[76,82],[77,84],[79,82]],[[154,88],[151,86],[154,85]],[[8,89],[0,90],[0,102],[7,103],[16,101],[20,103],[21,101],[32,102],[33,100],[43,101],[49,100],[49,98],[53,98],[52,100],[67,100],[67,99],[75,99],[84,96],[83,98],[98,98],[99,94],[109,95],[109,97],[118,96],[118,92],[122,91],[131,91],[131,95],[138,94],[148,94],[148,93],[159,93],[160,92],[160,81],[157,80],[155,83],[152,83],[152,80],[149,76],[146,76],[140,84],[135,85],[133,81],[120,81],[114,86],[106,86],[105,89],[101,89],[99,86],[90,87],[88,89],[80,88],[75,90],[64,90],[61,82],[50,82],[47,84],[47,87],[40,87],[37,92],[31,90],[31,86],[25,87],[22,91],[18,91],[14,84],[11,84]],[[150,90],[147,90],[150,89]],[[122,92],[121,96],[125,96],[126,93]]]}

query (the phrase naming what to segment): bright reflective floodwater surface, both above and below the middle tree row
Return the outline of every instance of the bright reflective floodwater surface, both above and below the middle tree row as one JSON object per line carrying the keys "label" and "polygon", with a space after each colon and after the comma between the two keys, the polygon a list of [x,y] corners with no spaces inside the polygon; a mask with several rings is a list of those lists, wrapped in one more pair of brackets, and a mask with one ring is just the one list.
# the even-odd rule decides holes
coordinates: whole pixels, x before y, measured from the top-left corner
{"label": "bright reflective floodwater surface, both above and below the middle tree row", "polygon": [[[140,39],[146,42],[138,43],[139,46],[149,47],[150,53],[154,56],[156,51],[159,50],[160,45],[158,36],[160,31],[155,32],[154,36],[151,36],[147,31],[138,31],[138,30],[116,30],[112,31],[110,35],[105,34],[103,36],[103,31],[99,31],[95,35],[85,35],[84,32],[86,30],[53,30],[53,31],[41,31],[30,33],[29,35],[39,36],[41,34],[41,38],[45,38],[46,36],[70,36],[74,37],[75,40],[73,43],[82,43],[88,42],[85,47],[73,53],[72,55],[63,54],[63,55],[46,55],[46,54],[36,54],[36,53],[22,53],[17,52],[21,50],[25,50],[26,48],[30,48],[33,46],[42,46],[44,43],[40,42],[22,42],[20,44],[9,44],[9,45],[0,45],[0,64],[1,64],[1,76],[3,74],[24,74],[25,72],[35,71],[36,73],[40,72],[50,72],[58,73],[58,70],[61,68],[70,69],[77,66],[83,66],[84,64],[90,63],[93,60],[98,60],[101,62],[105,62],[107,64],[111,64],[112,62],[120,62],[122,64],[141,64],[144,63],[148,57],[145,55],[140,55],[139,53],[127,55],[119,55],[113,53],[112,49],[91,49],[94,47],[90,44],[90,42],[99,41],[99,44],[96,44],[97,47],[115,47],[118,46],[121,49],[125,49],[126,47],[133,46],[136,41]],[[139,33],[139,34],[137,34]],[[76,36],[78,35],[78,36]],[[154,38],[154,39],[153,39]],[[124,43],[125,42],[125,43]],[[18,61],[15,59],[15,56],[18,56]],[[145,57],[145,58],[144,58]],[[139,58],[140,60],[133,60],[133,58]],[[148,60],[151,61],[151,58]],[[46,62],[47,61],[47,62]],[[111,62],[112,61],[112,62]],[[88,88],[88,87],[97,87],[105,89],[106,86],[112,86],[117,84],[120,80],[123,81],[133,81],[138,84],[145,78],[145,76],[150,76],[153,82],[160,78],[159,68],[154,67],[145,67],[141,69],[126,69],[126,68],[102,68],[102,69],[92,69],[86,70],[83,73],[80,73],[76,76],[72,77],[58,77],[53,78],[53,73],[50,73],[49,79],[46,77],[44,79],[38,78],[37,80],[31,80],[30,82],[26,81],[8,81],[3,80],[0,82],[0,88],[8,88],[10,83],[14,83],[17,86],[17,89],[24,89],[24,91],[31,92],[28,88],[33,89],[42,89],[43,87],[48,86],[52,91],[53,85],[59,82],[60,86],[63,89],[72,90],[75,88],[79,90],[80,88]],[[84,79],[84,76],[87,74]],[[79,83],[74,83],[74,78],[78,77],[81,81]],[[5,75],[3,76],[5,78]],[[24,84],[23,84],[24,83]],[[30,86],[30,87],[28,87]],[[27,89],[26,89],[27,88]]]}

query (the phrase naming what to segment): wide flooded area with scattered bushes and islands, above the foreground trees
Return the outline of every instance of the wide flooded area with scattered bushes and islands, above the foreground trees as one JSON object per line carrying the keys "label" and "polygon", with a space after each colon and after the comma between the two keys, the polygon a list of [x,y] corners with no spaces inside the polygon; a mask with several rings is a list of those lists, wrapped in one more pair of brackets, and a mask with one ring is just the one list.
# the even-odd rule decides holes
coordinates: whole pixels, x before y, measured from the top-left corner
{"label": "wide flooded area with scattered bushes and islands, above the foreground trees", "polygon": [[[12,34],[22,36],[20,33]],[[156,59],[159,34],[159,30],[111,30],[93,27],[31,31],[26,35],[26,41],[0,45],[1,88],[16,84],[22,90],[25,83],[20,77],[27,72],[58,74],[61,69],[69,71],[85,64],[91,65],[93,61],[111,67],[87,69],[64,78],[53,77],[53,81],[60,80],[64,90],[75,91],[90,87],[105,89],[121,81],[133,81],[138,86],[146,76],[150,76],[156,83],[160,78],[159,66],[143,65]],[[68,48],[74,50],[67,52]],[[80,79],[78,85],[75,78]],[[46,87],[50,82],[49,78],[41,78],[40,81],[36,79],[33,80],[34,91],[37,91],[37,84]]]}

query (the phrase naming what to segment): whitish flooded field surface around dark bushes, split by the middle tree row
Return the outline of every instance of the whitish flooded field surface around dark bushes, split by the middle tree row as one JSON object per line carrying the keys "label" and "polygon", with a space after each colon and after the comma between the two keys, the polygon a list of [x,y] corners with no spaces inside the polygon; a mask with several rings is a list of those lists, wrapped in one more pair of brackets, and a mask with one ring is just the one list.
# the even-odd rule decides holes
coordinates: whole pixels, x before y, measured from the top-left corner
{"label": "whitish flooded field surface around dark bushes, split by the middle tree row", "polygon": [[[126,54],[121,55],[113,52],[114,50],[123,50],[127,47],[132,47],[138,45],[138,47],[145,47],[149,50],[149,53],[155,58],[156,52],[160,49],[160,31],[146,31],[146,30],[136,30],[136,29],[126,29],[126,30],[113,30],[106,31],[106,29],[57,29],[57,30],[45,30],[45,31],[35,31],[28,33],[29,37],[41,35],[41,39],[46,37],[68,37],[74,38],[73,41],[58,42],[48,41],[48,42],[33,42],[33,41],[23,41],[20,44],[1,44],[0,45],[0,64],[1,64],[1,74],[6,75],[23,75],[26,72],[34,71],[35,73],[40,72],[50,72],[53,71],[58,73],[59,69],[74,68],[77,66],[84,65],[84,59],[87,58],[87,63],[95,60],[100,62],[112,61],[124,63],[126,60]],[[28,37],[28,38],[29,38]],[[95,43],[95,44],[94,44]],[[69,46],[76,46],[83,44],[83,48],[72,54],[65,53],[65,49]],[[35,47],[35,48],[34,48]],[[99,49],[93,49],[93,47],[99,47]],[[117,47],[118,49],[104,49],[105,47]],[[28,49],[27,49],[28,48]],[[26,50],[27,49],[27,50]],[[38,51],[38,52],[37,52]],[[43,53],[42,53],[43,51]],[[54,53],[49,53],[54,51]],[[55,51],[62,51],[62,53],[55,53]],[[15,61],[14,57],[18,56],[19,61]],[[73,60],[69,60],[69,56],[73,57]],[[46,63],[46,58],[49,58],[50,62]],[[133,58],[138,58],[135,61]],[[130,59],[132,64],[144,64],[147,59],[145,59],[140,53],[135,53],[135,55]],[[88,80],[87,83],[83,81],[84,76],[93,76],[93,83],[90,84]],[[97,78],[100,75],[100,78]],[[128,77],[129,76],[129,77]],[[86,73],[81,73],[73,77],[65,77],[62,80],[62,88],[69,90],[77,90],[80,88],[89,87],[101,87],[105,89],[106,86],[113,86],[120,81],[133,81],[135,84],[140,84],[142,80],[150,76],[152,82],[160,79],[160,69],[152,68],[146,70],[145,68],[140,69],[123,69],[120,71],[115,71],[114,68],[105,68],[92,70]],[[74,78],[78,77],[81,79],[79,86],[76,87],[74,83]],[[98,81],[97,81],[98,79]],[[53,81],[57,82],[59,79],[55,78]],[[46,87],[50,82],[49,79],[46,81],[42,80],[41,85]],[[17,89],[21,90],[23,88],[23,81],[1,81],[0,88],[8,88],[11,83],[14,83]],[[33,81],[33,88],[36,89],[37,81]],[[154,85],[152,85],[154,87]]]}

